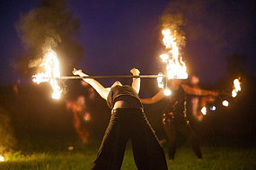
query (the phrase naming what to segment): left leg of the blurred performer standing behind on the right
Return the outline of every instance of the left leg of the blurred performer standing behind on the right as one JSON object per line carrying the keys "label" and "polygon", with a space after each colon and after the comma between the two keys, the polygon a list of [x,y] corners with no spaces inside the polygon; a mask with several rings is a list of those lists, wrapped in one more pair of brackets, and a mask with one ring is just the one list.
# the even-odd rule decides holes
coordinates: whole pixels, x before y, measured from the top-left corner
{"label": "left leg of the blurred performer standing behind on the right", "polygon": [[175,127],[175,123],[173,123],[173,122],[163,123],[163,129],[164,129],[164,132],[166,133],[166,136],[168,138],[169,159],[173,160],[174,159],[174,154],[176,152],[176,127]]}

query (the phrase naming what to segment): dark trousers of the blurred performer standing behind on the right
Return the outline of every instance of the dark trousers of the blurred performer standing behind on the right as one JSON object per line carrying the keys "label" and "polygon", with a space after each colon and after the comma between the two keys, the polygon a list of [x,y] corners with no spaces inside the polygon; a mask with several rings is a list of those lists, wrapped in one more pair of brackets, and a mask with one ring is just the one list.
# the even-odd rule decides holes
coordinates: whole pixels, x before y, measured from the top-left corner
{"label": "dark trousers of the blurred performer standing behind on the right", "polygon": [[192,149],[198,158],[202,158],[202,153],[199,148],[199,142],[197,140],[195,132],[192,130],[190,123],[187,123],[185,120],[172,120],[168,123],[163,123],[163,129],[167,135],[169,141],[169,159],[174,158],[176,151],[176,133],[181,132],[190,142]]}

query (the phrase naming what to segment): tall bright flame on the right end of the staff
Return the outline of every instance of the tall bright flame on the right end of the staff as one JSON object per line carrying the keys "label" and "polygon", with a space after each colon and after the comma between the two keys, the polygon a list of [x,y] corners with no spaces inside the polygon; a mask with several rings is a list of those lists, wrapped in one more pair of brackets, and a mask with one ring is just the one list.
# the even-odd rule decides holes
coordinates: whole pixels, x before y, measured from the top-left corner
{"label": "tall bright flame on the right end of the staff", "polygon": [[187,79],[186,64],[182,61],[179,54],[179,47],[177,46],[176,38],[172,36],[171,30],[162,30],[163,44],[168,53],[160,55],[163,62],[166,63],[166,70],[168,79]]}

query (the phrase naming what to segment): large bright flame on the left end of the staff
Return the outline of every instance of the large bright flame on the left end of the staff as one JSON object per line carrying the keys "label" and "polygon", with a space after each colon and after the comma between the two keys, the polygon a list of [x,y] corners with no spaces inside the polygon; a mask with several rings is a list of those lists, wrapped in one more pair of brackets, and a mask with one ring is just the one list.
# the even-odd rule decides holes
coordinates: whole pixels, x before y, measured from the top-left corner
{"label": "large bright flame on the left end of the staff", "polygon": [[44,55],[43,62],[40,66],[44,67],[44,72],[37,73],[32,76],[32,81],[40,84],[41,82],[50,83],[53,93],[52,98],[60,98],[62,89],[57,85],[57,78],[60,77],[59,64],[57,60],[57,54],[54,50],[49,49]]}

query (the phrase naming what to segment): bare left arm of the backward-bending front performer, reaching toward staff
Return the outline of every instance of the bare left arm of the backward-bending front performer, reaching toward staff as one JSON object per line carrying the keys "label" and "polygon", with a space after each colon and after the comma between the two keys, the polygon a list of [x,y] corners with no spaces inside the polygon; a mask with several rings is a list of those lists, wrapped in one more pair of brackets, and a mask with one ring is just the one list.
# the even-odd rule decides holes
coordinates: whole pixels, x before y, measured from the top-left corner
{"label": "bare left arm of the backward-bending front performer, reaching toward staff", "polygon": [[[88,76],[87,74],[82,72],[82,70],[76,70],[75,68],[73,70],[73,74],[74,75],[79,75],[80,77]],[[90,84],[93,87],[93,89],[95,89],[99,93],[99,95],[102,98],[107,100],[109,92],[110,92],[109,88],[104,88],[100,82],[95,81],[94,79],[83,79],[83,80],[85,82],[87,82],[88,84]]]}

